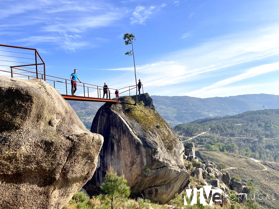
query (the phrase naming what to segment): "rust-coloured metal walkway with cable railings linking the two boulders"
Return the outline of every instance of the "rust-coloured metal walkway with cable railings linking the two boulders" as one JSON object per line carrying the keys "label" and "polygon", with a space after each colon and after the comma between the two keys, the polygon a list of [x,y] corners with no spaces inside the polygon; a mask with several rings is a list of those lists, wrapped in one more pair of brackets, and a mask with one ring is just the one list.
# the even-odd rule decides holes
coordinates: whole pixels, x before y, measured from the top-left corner
{"label": "rust-coloured metal walkway with cable railings linking the two boulders", "polygon": [[[75,95],[72,95],[71,80],[47,75],[44,61],[38,51],[33,48],[0,44],[0,76],[20,79],[42,79],[52,85],[66,100],[118,102],[118,98],[114,97],[116,89],[109,88],[108,99],[104,99],[102,98],[103,86],[82,82],[77,82],[77,91]],[[118,89],[118,91],[119,96],[135,95],[137,94],[137,86],[127,86]]]}

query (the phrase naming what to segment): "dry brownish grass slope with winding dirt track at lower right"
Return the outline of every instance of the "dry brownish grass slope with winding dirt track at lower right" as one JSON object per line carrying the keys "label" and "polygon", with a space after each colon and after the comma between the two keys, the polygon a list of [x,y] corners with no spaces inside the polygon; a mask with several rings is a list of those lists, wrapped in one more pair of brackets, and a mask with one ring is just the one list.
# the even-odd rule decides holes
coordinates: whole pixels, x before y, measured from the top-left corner
{"label": "dry brownish grass slope with winding dirt track at lower right", "polygon": [[[279,208],[279,172],[273,163],[264,163],[265,167],[250,158],[223,152],[200,151],[201,155],[212,162],[225,163],[233,169],[226,170],[230,176],[237,176],[242,181],[254,182],[255,200],[262,208]],[[275,168],[275,169],[274,169]],[[263,198],[262,200],[258,199]],[[269,198],[267,198],[267,195]],[[273,195],[273,196],[272,196]],[[250,198],[250,196],[248,196]],[[253,195],[252,195],[253,198]],[[274,200],[273,200],[274,199]]]}

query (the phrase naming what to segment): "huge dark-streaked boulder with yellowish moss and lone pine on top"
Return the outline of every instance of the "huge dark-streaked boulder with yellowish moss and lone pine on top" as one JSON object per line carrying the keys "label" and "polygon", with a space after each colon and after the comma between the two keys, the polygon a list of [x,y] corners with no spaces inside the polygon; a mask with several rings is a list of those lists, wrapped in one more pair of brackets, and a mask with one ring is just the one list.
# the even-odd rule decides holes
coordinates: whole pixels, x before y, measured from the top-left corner
{"label": "huge dark-streaked boulder with yellowish moss and lone pine on top", "polygon": [[184,146],[148,94],[140,94],[138,102],[135,106],[135,96],[125,96],[100,107],[91,132],[101,134],[104,145],[96,172],[83,188],[92,195],[112,165],[118,174],[125,174],[132,194],[166,203],[189,183]]}

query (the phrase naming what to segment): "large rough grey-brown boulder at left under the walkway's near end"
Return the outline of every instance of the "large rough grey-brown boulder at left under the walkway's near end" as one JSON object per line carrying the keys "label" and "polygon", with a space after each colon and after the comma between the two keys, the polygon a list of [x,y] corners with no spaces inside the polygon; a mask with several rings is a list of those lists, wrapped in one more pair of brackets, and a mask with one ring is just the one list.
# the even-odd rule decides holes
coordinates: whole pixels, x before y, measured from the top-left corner
{"label": "large rough grey-brown boulder at left under the walkway's near end", "polygon": [[91,179],[103,137],[51,85],[0,76],[0,208],[61,208]]}

